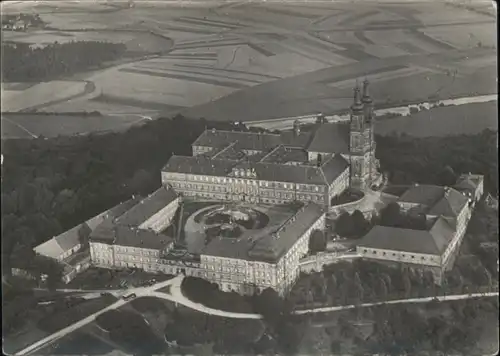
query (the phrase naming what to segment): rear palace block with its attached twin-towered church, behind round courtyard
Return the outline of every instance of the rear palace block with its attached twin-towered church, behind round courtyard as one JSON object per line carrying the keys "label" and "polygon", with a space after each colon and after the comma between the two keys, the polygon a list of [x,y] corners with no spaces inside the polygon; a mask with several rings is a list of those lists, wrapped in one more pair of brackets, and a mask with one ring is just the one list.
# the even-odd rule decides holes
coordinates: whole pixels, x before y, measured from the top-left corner
{"label": "rear palace block with its attached twin-towered church, behind round courtyard", "polygon": [[206,130],[192,156],[173,156],[162,182],[186,197],[329,207],[348,187],[368,189],[379,177],[373,100],[356,85],[348,122],[319,117],[308,130],[253,133]]}

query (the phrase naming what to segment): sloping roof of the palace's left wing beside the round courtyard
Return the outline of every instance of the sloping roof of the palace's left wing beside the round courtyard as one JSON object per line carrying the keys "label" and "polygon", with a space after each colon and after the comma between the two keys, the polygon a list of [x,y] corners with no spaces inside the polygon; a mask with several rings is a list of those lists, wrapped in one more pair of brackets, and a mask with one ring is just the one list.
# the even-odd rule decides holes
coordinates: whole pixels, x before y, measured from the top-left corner
{"label": "sloping roof of the palace's left wing beside the round courtyard", "polygon": [[162,186],[117,218],[116,223],[126,226],[139,226],[176,198],[177,193],[174,189],[170,186]]}

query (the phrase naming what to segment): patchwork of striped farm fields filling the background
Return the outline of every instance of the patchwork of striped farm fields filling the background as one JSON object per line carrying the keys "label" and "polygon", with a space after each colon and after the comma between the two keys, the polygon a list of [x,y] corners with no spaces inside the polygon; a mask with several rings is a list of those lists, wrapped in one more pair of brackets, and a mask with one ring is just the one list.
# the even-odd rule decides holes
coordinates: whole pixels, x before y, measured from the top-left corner
{"label": "patchwork of striped farm fields filling the background", "polygon": [[165,50],[169,38],[173,46],[157,58],[79,76],[92,85],[85,95],[68,95],[60,83],[43,93],[10,88],[7,105],[251,121],[346,109],[352,85],[364,76],[376,103],[496,92],[495,19],[484,6],[471,6],[136,1],[129,9],[123,2],[40,2],[29,11],[49,29],[5,39],[104,39],[140,53]]}

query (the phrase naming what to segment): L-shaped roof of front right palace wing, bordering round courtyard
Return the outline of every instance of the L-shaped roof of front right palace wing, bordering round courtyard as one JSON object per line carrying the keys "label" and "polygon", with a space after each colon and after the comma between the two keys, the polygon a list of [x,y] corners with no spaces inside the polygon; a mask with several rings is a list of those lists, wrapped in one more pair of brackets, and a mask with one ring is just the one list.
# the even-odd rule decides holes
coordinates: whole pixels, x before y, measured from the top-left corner
{"label": "L-shaped roof of front right palace wing, bordering round courtyard", "polygon": [[324,211],[309,203],[277,228],[277,234],[266,234],[258,240],[250,238],[215,238],[204,249],[204,255],[276,262],[311,227]]}

